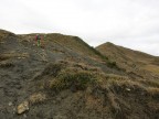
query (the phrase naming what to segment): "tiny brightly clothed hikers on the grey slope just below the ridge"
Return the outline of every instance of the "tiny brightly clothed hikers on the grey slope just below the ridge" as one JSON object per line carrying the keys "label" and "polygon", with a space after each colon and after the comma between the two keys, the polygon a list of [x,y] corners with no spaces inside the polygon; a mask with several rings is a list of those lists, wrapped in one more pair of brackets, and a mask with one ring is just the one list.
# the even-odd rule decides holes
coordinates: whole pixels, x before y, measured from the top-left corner
{"label": "tiny brightly clothed hikers on the grey slope just below the ridge", "polygon": [[45,39],[46,39],[46,35],[36,34],[34,40],[35,40],[36,45],[38,45],[39,47],[43,47],[43,46],[44,46],[44,41],[45,41]]}

